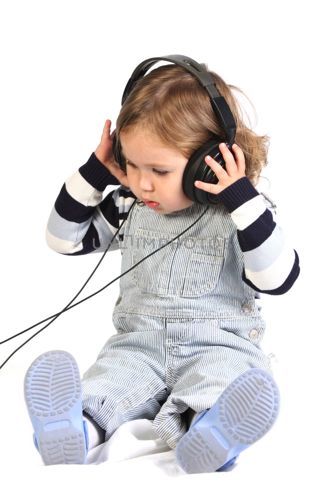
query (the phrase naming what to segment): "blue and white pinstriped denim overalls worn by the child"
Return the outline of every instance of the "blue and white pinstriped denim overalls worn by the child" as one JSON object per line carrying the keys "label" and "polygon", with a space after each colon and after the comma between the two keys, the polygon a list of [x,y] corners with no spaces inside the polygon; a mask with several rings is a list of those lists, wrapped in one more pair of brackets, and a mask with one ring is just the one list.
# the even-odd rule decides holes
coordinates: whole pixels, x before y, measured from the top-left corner
{"label": "blue and white pinstriped denim overalls worn by the child", "polygon": [[[206,209],[169,214],[137,200],[125,222],[121,273],[169,242]],[[110,256],[111,257],[111,256]],[[273,376],[260,347],[265,321],[241,279],[237,226],[221,203],[179,239],[120,278],[112,335],[82,378],[83,409],[106,430],[153,421],[169,447],[188,430],[182,413],[211,408],[241,373]]]}

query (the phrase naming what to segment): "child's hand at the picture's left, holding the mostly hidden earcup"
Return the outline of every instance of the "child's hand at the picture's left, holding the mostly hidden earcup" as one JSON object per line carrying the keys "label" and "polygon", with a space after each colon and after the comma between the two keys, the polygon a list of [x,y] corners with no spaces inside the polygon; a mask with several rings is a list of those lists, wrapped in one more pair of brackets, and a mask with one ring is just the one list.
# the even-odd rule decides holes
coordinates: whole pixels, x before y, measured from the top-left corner
{"label": "child's hand at the picture's left, holding the mostly hidden earcup", "polygon": [[125,185],[129,188],[126,174],[121,170],[119,164],[116,163],[116,161],[114,160],[113,137],[114,137],[116,128],[114,129],[111,135],[110,134],[111,125],[112,125],[111,120],[105,121],[101,141],[97,149],[94,151],[94,153],[98,158],[98,160],[104,166],[106,166],[106,168],[108,168],[110,173],[112,173],[112,175],[114,175],[114,177],[117,178],[117,180],[121,183],[121,185]]}

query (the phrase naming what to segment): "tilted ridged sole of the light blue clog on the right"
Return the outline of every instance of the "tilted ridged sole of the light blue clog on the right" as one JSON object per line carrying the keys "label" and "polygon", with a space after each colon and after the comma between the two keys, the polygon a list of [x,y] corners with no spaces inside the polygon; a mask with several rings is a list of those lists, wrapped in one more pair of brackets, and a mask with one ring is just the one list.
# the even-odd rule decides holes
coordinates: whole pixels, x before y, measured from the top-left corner
{"label": "tilted ridged sole of the light blue clog on the right", "polygon": [[176,459],[188,474],[215,472],[272,428],[280,392],[271,375],[252,368],[236,378],[180,439]]}

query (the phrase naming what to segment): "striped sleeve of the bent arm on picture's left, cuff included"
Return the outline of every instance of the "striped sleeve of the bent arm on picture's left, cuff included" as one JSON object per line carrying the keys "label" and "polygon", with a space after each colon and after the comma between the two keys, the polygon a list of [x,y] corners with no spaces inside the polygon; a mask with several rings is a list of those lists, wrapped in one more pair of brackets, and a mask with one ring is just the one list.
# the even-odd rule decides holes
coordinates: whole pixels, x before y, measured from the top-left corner
{"label": "striped sleeve of the bent arm on picture's left, cuff included", "polygon": [[[46,227],[47,245],[59,254],[81,256],[105,252],[136,199],[125,185],[102,200],[107,185],[120,185],[93,152],[88,161],[62,186]],[[109,251],[120,249],[122,231]]]}

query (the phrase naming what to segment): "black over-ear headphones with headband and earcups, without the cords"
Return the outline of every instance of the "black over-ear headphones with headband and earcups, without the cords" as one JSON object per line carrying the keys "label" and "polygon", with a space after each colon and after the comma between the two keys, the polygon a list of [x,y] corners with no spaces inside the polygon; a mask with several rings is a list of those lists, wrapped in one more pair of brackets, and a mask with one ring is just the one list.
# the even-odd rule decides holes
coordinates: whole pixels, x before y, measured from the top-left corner
{"label": "black over-ear headphones with headband and earcups, without the cords", "polygon": [[[198,62],[191,59],[191,57],[181,56],[179,54],[146,59],[134,69],[126,84],[121,104],[123,106],[126,97],[136,86],[141,77],[143,77],[147,71],[158,61],[173,62],[174,64],[180,65],[196,77],[201,86],[208,92],[214,115],[224,129],[224,133],[226,135],[225,139],[220,139],[218,136],[212,134],[207,143],[202,145],[191,156],[185,167],[182,177],[183,191],[190,200],[203,205],[215,205],[219,202],[217,195],[206,192],[205,190],[200,190],[200,188],[195,186],[195,181],[200,180],[206,183],[218,183],[219,180],[210,166],[205,162],[205,157],[210,155],[211,158],[219,163],[220,166],[226,169],[223,155],[219,149],[219,143],[224,142],[227,145],[229,151],[234,156],[234,160],[236,161],[235,154],[232,151],[232,145],[236,135],[236,123],[228,104],[223,96],[221,96],[217,91],[214,80],[210,76],[209,72],[198,64]],[[126,160],[122,155],[121,144],[116,138],[116,133],[113,137],[113,154],[114,159],[119,164],[121,170],[126,173]]]}

